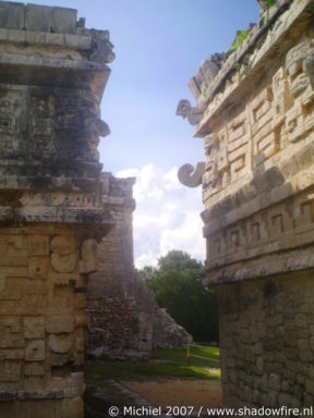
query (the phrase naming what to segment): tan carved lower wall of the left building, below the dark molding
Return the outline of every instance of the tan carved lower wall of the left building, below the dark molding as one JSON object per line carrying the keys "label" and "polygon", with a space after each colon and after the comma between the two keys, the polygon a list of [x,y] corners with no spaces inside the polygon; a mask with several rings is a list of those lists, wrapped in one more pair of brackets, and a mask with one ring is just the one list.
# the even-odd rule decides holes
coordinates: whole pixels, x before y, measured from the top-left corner
{"label": "tan carved lower wall of the left building, below the dark molding", "polygon": [[1,229],[3,417],[55,417],[56,407],[62,417],[82,416],[88,318],[80,242],[75,229],[62,225]]}

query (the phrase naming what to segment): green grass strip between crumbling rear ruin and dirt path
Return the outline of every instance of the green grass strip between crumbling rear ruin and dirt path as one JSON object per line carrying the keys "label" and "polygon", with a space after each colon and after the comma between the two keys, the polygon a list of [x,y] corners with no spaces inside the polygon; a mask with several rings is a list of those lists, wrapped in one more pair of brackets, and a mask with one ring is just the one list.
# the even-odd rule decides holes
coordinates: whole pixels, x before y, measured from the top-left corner
{"label": "green grass strip between crumbling rear ruin and dirt path", "polygon": [[147,381],[167,379],[219,379],[219,348],[192,348],[191,366],[186,362],[186,349],[155,349],[149,361],[88,361],[85,373],[98,379],[119,381]]}

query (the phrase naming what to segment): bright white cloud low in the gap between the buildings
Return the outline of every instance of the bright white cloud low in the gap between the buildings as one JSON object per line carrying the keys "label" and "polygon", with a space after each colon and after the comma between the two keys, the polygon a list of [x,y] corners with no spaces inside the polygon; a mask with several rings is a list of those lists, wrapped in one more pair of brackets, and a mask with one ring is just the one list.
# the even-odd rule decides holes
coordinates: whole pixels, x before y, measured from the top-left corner
{"label": "bright white cloud low in the gap between the buildings", "polygon": [[133,229],[137,268],[155,266],[171,249],[184,250],[200,260],[205,258],[201,187],[182,186],[177,172],[176,167],[165,172],[149,163],[117,174],[136,177]]}

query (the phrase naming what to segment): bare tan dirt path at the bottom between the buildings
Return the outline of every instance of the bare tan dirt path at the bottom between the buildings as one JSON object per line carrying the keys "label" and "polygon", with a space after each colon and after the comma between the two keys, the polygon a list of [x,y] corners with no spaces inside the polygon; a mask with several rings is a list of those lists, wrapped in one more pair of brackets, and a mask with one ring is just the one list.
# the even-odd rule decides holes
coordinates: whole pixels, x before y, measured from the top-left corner
{"label": "bare tan dirt path at the bottom between the buildings", "polygon": [[194,406],[200,408],[221,405],[219,381],[171,380],[165,382],[123,382],[130,391],[144,397],[155,406]]}

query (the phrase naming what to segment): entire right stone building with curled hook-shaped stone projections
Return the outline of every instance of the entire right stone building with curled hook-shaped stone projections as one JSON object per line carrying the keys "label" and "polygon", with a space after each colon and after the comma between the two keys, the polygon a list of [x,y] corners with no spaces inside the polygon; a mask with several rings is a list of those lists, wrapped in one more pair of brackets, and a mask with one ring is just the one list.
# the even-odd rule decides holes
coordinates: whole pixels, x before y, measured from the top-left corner
{"label": "entire right stone building with curled hook-shaped stone projections", "polygon": [[179,177],[203,185],[224,403],[313,406],[314,1],[259,3],[243,44],[192,78],[197,107],[179,103],[206,155]]}

